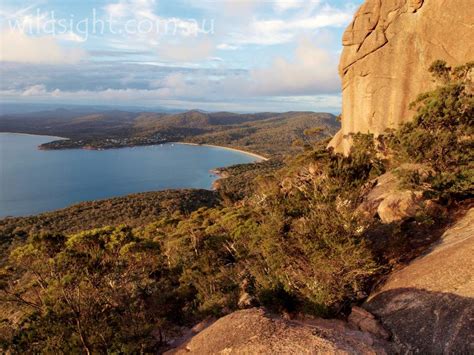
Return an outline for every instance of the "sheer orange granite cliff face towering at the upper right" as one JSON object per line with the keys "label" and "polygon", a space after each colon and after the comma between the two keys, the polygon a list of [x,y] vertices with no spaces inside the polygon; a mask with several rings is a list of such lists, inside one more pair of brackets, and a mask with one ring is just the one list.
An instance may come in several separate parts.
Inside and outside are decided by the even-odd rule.
{"label": "sheer orange granite cliff face towering at the upper right", "polygon": [[330,145],[348,153],[349,133],[410,120],[410,102],[435,85],[431,63],[473,60],[472,38],[472,0],[366,0],[343,36],[342,129]]}

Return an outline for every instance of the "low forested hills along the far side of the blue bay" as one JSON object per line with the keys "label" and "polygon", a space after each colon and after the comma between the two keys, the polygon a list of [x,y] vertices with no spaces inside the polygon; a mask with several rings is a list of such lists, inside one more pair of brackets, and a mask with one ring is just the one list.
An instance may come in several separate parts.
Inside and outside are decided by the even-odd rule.
{"label": "low forested hills along the far side of the blue bay", "polygon": [[[305,135],[305,130],[315,127],[321,128],[319,134]],[[314,112],[238,114],[192,110],[167,114],[57,109],[0,116],[2,132],[69,138],[47,143],[44,149],[107,149],[182,141],[279,155],[330,137],[339,128],[334,115]],[[302,144],[294,146],[295,141]]]}

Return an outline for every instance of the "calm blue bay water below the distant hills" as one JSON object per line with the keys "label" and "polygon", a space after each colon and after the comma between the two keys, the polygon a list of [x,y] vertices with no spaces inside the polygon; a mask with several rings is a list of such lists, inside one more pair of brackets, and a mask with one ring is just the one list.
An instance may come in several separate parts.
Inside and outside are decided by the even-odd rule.
{"label": "calm blue bay water below the distant hills", "polygon": [[175,188],[210,188],[209,170],[256,158],[203,146],[165,144],[105,151],[42,151],[54,137],[0,133],[0,218]]}

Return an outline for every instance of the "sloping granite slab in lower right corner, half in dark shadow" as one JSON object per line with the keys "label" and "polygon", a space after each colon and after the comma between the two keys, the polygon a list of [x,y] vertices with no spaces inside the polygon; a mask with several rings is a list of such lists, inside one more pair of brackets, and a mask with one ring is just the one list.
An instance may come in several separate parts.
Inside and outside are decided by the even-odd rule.
{"label": "sloping granite slab in lower right corner, half in dark shadow", "polygon": [[474,209],[364,305],[398,353],[474,353]]}

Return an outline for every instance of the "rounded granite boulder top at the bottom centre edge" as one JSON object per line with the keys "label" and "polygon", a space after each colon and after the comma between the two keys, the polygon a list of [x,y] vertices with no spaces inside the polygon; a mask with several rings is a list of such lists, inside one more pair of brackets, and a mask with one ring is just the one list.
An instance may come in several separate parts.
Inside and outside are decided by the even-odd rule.
{"label": "rounded granite boulder top at the bottom centre edge", "polygon": [[252,308],[217,320],[167,354],[386,354],[388,349],[389,343],[340,320],[292,321]]}

